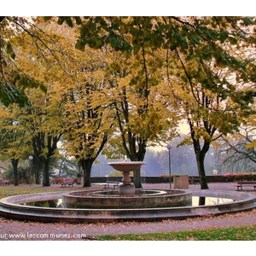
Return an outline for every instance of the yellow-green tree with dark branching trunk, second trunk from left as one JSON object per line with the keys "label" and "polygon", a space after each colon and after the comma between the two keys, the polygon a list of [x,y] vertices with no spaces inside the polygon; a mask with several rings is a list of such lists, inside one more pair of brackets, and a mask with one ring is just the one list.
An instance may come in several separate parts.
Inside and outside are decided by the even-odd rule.
{"label": "yellow-green tree with dark branching trunk, second trunk from left", "polygon": [[56,101],[55,92],[48,90],[31,90],[28,93],[30,105],[21,109],[26,119],[26,131],[29,133],[33,152],[33,164],[36,165],[36,182],[43,172],[43,186],[49,186],[49,165],[57,153],[57,143],[64,132],[61,121],[61,102]]}

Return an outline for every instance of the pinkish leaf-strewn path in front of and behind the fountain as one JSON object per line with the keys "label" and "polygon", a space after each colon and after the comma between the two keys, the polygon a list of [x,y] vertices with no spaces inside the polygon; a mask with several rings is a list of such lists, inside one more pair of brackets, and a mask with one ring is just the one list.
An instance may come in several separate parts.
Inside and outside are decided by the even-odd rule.
{"label": "pinkish leaf-strewn path in front of and behind the fountain", "polygon": [[[168,189],[169,184],[144,184],[145,189]],[[190,185],[197,190],[200,186]],[[236,183],[210,183],[209,189],[236,191]],[[253,191],[244,191],[255,193]],[[164,220],[160,222],[125,222],[109,224],[44,224],[0,218],[0,240],[83,240],[84,236],[107,234],[143,234],[182,230],[207,230],[256,224],[256,209],[218,217]],[[23,234],[23,236],[21,236]]]}

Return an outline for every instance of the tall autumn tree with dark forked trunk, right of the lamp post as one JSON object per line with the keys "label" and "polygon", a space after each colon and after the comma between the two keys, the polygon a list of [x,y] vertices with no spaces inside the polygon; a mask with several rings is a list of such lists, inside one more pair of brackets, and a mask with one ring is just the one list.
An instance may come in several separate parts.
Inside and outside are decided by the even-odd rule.
{"label": "tall autumn tree with dark forked trunk, right of the lamp post", "polygon": [[[201,189],[208,188],[204,160],[211,143],[222,135],[237,131],[253,113],[255,78],[252,71],[255,63],[248,51],[253,41],[247,44],[250,35],[247,39],[241,37],[235,27],[235,24],[239,25],[238,20],[232,21],[232,26],[229,22],[219,25],[218,30],[214,30],[218,40],[207,46],[202,44],[194,51],[193,59],[184,55],[181,49],[175,50],[181,67],[179,87],[190,96],[181,97],[180,102],[189,123]],[[209,31],[213,30],[213,24],[207,23]],[[246,30],[243,26],[240,29],[247,31],[249,28]],[[242,43],[247,45],[240,48]],[[202,56],[206,48],[207,55]]]}

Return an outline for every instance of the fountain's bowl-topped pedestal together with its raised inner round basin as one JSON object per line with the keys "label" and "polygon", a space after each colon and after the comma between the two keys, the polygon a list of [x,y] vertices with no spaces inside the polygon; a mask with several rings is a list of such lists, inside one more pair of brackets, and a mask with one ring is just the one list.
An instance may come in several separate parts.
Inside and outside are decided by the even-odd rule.
{"label": "fountain's bowl-topped pedestal together with its raised inner round basin", "polygon": [[135,189],[131,183],[130,172],[137,172],[142,161],[109,162],[109,166],[123,173],[119,189],[96,191],[73,191],[62,195],[68,208],[131,209],[179,207],[191,205],[191,192],[183,190]]}

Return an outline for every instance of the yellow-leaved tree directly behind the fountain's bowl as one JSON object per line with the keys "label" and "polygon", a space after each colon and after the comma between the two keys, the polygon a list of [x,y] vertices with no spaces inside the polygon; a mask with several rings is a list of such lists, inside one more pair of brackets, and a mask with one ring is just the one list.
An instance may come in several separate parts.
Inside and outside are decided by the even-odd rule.
{"label": "yellow-leaved tree directly behind the fountain's bowl", "polygon": [[[152,51],[141,54],[140,58],[137,55],[129,59],[120,55],[108,70],[118,128],[110,139],[108,151],[112,151],[113,157],[126,155],[131,161],[143,161],[148,145],[170,139],[177,124],[176,113],[170,114],[161,95],[165,84],[153,83],[156,82],[153,74],[161,73],[157,67],[159,55]],[[142,67],[147,69],[147,76]],[[133,180],[136,188],[142,187],[140,172],[133,174]]]}

